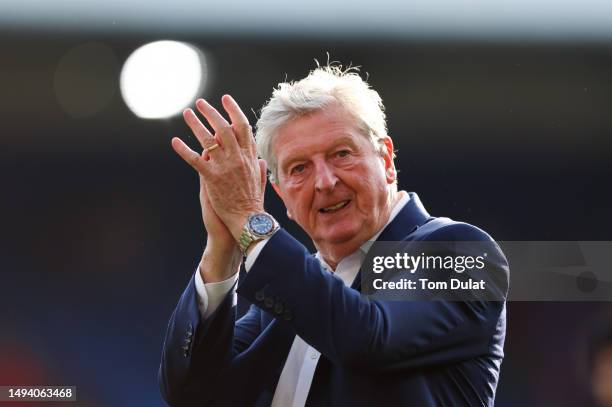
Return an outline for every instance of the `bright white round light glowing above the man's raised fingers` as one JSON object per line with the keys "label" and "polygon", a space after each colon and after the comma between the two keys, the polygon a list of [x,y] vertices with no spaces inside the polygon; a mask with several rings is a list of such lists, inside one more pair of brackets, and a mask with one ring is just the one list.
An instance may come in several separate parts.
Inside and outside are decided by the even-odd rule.
{"label": "bright white round light glowing above the man's raised fingers", "polygon": [[192,45],[156,41],[134,51],[121,71],[121,94],[145,119],[174,116],[193,103],[206,82],[204,54]]}

